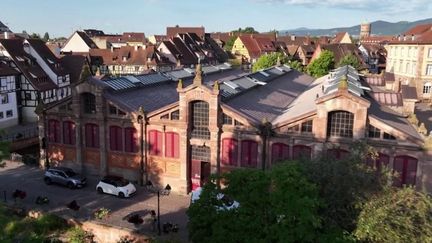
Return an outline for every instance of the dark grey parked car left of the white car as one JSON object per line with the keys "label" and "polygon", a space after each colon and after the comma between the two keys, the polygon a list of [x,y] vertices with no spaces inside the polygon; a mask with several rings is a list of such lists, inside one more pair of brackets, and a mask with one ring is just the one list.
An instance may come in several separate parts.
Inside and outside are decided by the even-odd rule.
{"label": "dark grey parked car left of the white car", "polygon": [[53,183],[67,186],[70,189],[81,188],[87,184],[87,179],[66,167],[53,167],[45,171],[44,181],[47,185]]}

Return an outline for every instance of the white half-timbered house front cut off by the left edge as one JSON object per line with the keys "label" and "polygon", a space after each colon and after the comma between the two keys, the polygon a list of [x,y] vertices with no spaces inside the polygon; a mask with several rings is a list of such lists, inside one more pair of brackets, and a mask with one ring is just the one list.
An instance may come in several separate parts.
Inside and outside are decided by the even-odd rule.
{"label": "white half-timbered house front cut off by the left edge", "polygon": [[16,79],[19,74],[0,60],[0,129],[18,124]]}

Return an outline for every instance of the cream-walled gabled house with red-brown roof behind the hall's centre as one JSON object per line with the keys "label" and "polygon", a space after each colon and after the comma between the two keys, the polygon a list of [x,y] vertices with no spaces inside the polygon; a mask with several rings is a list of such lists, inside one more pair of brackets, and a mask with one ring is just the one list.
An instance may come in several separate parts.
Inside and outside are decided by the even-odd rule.
{"label": "cream-walled gabled house with red-brown roof behind the hall's centre", "polygon": [[255,63],[261,55],[276,52],[276,47],[270,38],[242,35],[235,40],[231,52],[244,63]]}

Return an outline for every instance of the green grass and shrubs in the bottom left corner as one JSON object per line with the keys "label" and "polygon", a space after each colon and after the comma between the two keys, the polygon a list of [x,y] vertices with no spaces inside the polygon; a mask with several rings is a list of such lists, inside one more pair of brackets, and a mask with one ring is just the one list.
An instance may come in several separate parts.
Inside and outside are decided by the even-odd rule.
{"label": "green grass and shrubs in the bottom left corner", "polygon": [[67,236],[67,242],[81,241],[84,232],[79,228],[68,226],[67,222],[55,215],[46,214],[38,219],[21,217],[0,203],[0,242],[1,243],[45,243],[62,242],[60,238]]}

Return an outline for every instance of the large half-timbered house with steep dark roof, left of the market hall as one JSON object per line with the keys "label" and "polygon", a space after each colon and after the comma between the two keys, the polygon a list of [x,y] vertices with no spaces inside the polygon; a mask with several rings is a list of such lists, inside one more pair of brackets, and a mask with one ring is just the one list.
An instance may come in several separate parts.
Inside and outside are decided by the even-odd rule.
{"label": "large half-timbered house with steep dark roof, left of the market hall", "polygon": [[39,39],[0,39],[0,58],[20,74],[16,78],[19,122],[37,120],[35,108],[71,95],[70,84],[77,82],[85,58],[56,57]]}

